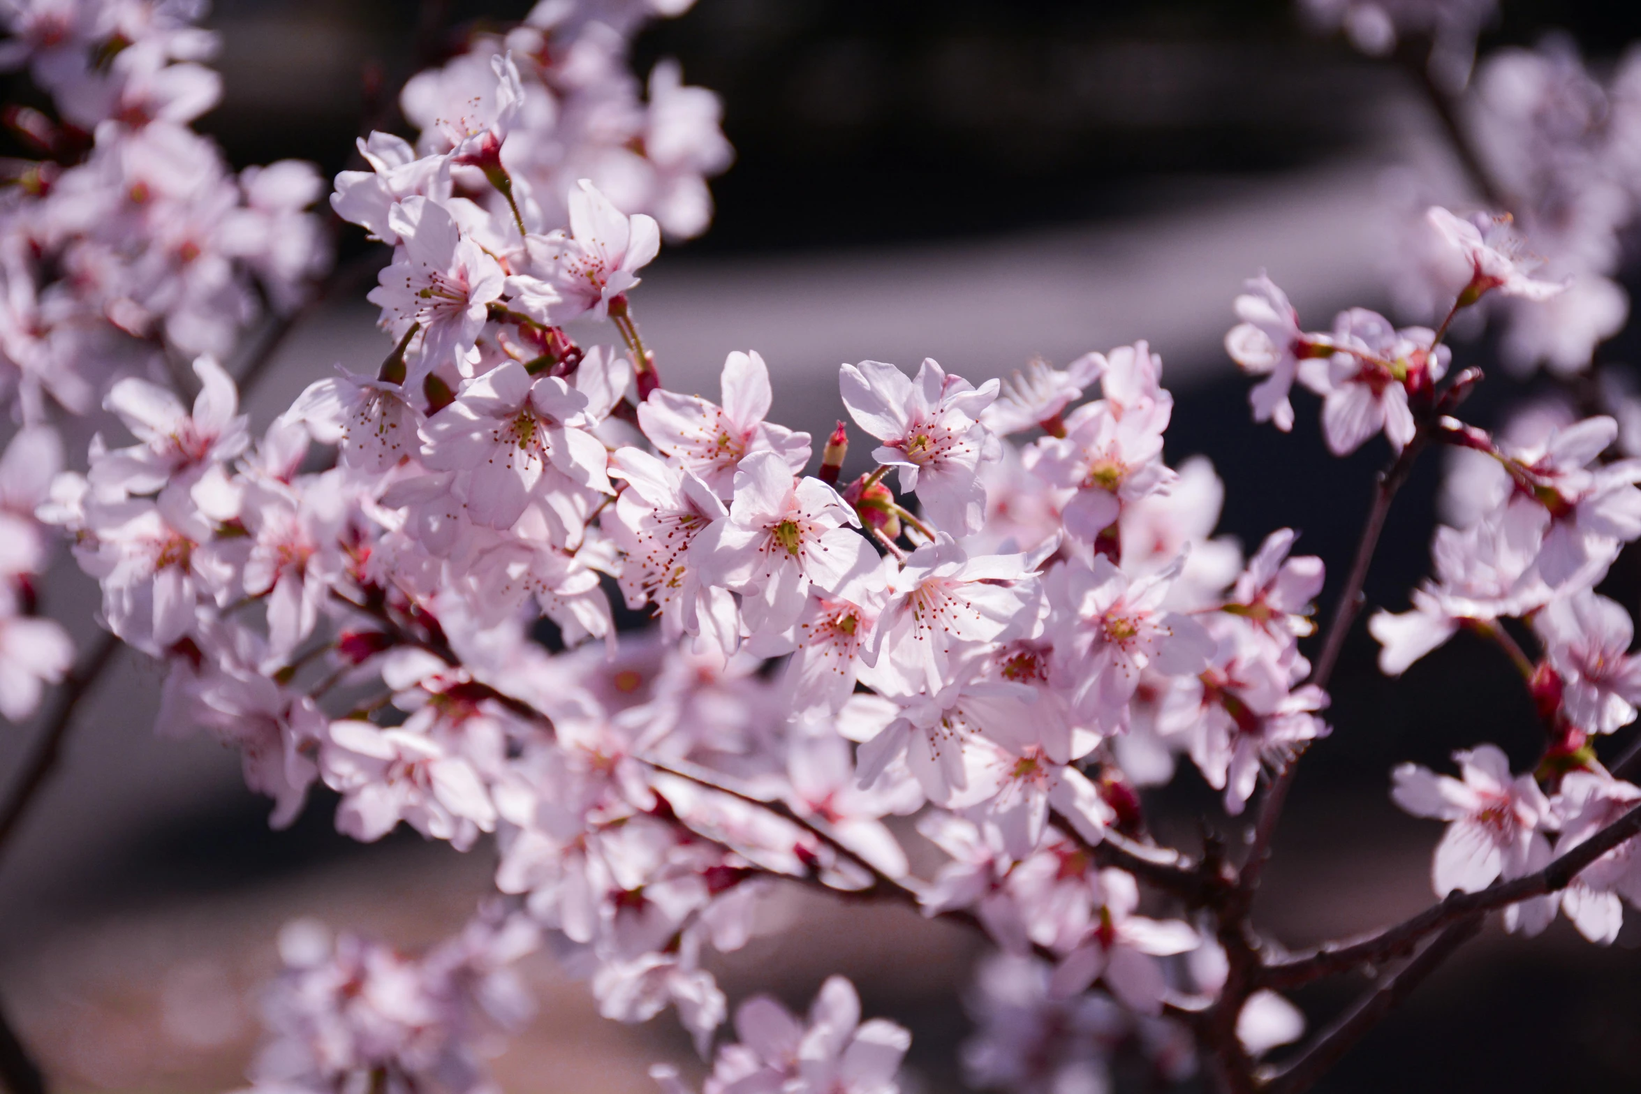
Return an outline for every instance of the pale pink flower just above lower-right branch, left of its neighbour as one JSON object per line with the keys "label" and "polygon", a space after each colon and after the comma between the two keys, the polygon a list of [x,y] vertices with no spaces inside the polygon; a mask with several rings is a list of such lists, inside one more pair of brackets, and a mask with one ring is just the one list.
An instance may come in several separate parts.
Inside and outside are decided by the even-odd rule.
{"label": "pale pink flower just above lower-right branch, left of its neighbour", "polygon": [[1452,758],[1462,781],[1401,764],[1390,794],[1415,817],[1449,822],[1431,871],[1442,897],[1454,889],[1480,892],[1500,874],[1520,877],[1529,871],[1534,848],[1549,850],[1539,832],[1551,820],[1549,800],[1531,774],[1511,776],[1510,759],[1493,745]]}

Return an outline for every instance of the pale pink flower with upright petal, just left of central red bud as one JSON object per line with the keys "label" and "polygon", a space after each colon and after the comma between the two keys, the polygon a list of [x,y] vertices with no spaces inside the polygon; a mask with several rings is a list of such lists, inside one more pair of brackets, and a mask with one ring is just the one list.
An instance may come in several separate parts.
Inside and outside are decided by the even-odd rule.
{"label": "pale pink flower with upright petal, just left of central red bud", "polygon": [[809,463],[809,435],[765,422],[770,413],[770,369],[757,353],[735,351],[724,361],[724,405],[666,389],[638,407],[638,425],[663,454],[701,476],[719,497],[730,497],[735,467],[748,453],[779,453],[793,474]]}

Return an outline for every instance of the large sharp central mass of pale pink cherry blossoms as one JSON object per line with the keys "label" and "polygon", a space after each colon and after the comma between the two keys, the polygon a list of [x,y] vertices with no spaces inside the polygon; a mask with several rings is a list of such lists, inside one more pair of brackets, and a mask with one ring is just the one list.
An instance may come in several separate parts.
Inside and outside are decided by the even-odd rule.
{"label": "large sharp central mass of pale pink cherry blossoms", "polygon": [[[505,57],[491,79],[515,102]],[[469,138],[510,134],[499,110]],[[568,230],[519,233],[505,179],[489,207],[446,185],[463,154],[340,180],[394,243],[376,377],[320,381],[259,438],[210,358],[192,407],[130,377],[107,408],[133,443],[56,481],[107,625],[169,664],[161,728],[236,745],[274,823],[323,782],[361,840],[494,833],[497,887],[604,1012],[671,1005],[702,1048],[727,1014],[702,951],[745,941],[771,874],[976,915],[1062,994],[1159,1015],[1195,991],[1173,958],[1198,932],[1088,848],[1175,753],[1241,812],[1326,733],[1296,648],[1321,564],[1287,530],[1247,566],[1209,541],[1219,484],[1163,463],[1160,358],[980,387],[843,366],[875,469],[842,482],[840,425],[804,474],[757,353],[719,402],[660,385],[648,215],[583,180]],[[576,346],[579,317],[622,344]],[[617,641],[612,594],[656,630]],[[927,887],[886,823],[907,814],[952,856]]]}

